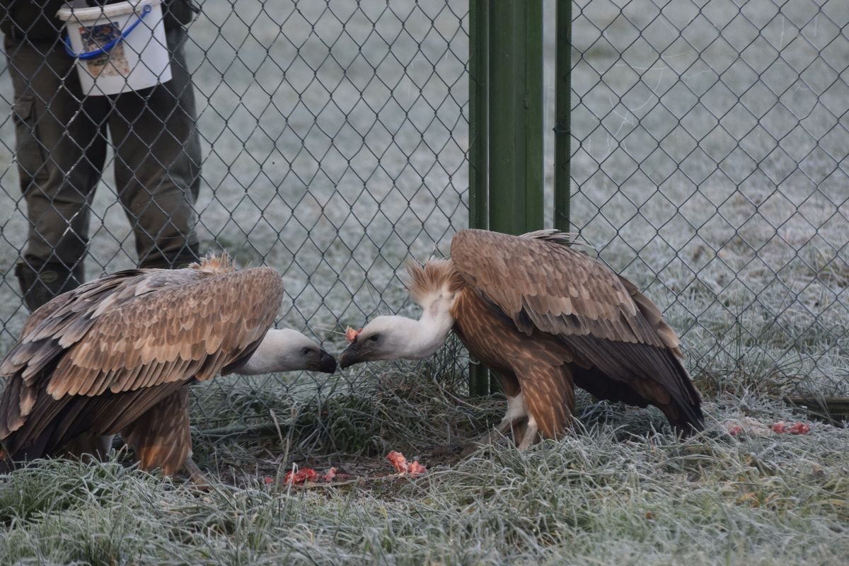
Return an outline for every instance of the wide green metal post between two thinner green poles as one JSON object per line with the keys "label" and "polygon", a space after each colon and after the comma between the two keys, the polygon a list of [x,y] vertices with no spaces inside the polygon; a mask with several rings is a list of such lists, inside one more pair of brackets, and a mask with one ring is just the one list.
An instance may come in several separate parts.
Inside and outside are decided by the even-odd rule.
{"label": "wide green metal post between two thinner green poles", "polygon": [[489,227],[543,227],[543,4],[490,3]]}

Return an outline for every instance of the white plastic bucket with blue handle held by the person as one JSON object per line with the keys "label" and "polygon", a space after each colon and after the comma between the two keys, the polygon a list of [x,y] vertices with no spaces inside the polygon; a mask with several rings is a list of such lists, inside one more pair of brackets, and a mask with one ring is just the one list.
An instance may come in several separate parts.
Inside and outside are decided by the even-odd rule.
{"label": "white plastic bucket with blue handle held by the person", "polygon": [[56,17],[65,21],[65,47],[76,58],[83,94],[120,94],[171,81],[160,0],[66,4]]}

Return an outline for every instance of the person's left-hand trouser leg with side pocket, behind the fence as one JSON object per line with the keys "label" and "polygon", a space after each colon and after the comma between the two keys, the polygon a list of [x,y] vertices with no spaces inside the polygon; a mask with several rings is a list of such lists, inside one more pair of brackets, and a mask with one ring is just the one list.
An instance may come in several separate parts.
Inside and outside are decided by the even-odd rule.
{"label": "person's left-hand trouser leg with side pocket, behind the fence", "polygon": [[104,105],[80,100],[79,79],[59,42],[4,42],[14,87],[15,160],[30,223],[15,266],[34,311],[83,280],[88,204],[104,164]]}

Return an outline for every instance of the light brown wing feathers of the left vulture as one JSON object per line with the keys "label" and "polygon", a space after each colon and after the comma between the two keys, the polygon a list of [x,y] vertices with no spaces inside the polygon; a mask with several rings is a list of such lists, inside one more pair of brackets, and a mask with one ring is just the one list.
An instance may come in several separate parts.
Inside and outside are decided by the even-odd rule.
{"label": "light brown wing feathers of the left vulture", "polygon": [[[171,371],[178,362],[182,367],[184,361],[213,358],[198,370],[199,379],[211,378],[222,361],[265,335],[283,296],[277,272],[266,267],[221,275],[180,271],[185,273],[175,277],[176,284],[133,296],[101,314],[59,361],[48,393],[98,395],[184,381],[193,376]],[[193,278],[186,281],[187,275]],[[123,377],[139,366],[145,371],[125,382]],[[109,373],[111,378],[101,379]]]}

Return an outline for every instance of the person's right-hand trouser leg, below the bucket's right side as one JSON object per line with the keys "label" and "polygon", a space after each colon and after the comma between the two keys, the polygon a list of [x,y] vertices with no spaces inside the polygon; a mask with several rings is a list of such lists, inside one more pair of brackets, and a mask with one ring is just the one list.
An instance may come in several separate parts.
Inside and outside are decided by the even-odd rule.
{"label": "person's right-hand trouser leg, below the bucket's right side", "polygon": [[116,188],[140,267],[178,267],[198,259],[200,136],[183,53],[186,32],[175,28],[166,36],[171,81],[119,95],[110,116]]}

